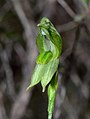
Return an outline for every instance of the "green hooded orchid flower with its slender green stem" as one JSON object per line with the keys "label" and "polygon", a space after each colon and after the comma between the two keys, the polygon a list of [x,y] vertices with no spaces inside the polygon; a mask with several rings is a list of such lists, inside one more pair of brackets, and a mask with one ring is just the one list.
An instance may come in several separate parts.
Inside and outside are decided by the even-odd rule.
{"label": "green hooded orchid flower with its slender green stem", "polygon": [[27,89],[40,82],[44,92],[48,86],[48,119],[51,119],[57,90],[57,69],[62,52],[62,39],[46,17],[42,18],[38,27],[36,45],[39,55],[36,58],[36,66]]}

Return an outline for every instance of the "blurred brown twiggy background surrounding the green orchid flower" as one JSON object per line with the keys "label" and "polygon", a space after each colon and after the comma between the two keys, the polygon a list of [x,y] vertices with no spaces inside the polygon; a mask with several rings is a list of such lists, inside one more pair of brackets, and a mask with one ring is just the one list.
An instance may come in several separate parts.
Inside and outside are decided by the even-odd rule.
{"label": "blurred brown twiggy background surrounding the green orchid flower", "polygon": [[43,16],[63,38],[53,119],[90,119],[90,0],[0,0],[0,119],[47,119],[47,92],[26,92]]}

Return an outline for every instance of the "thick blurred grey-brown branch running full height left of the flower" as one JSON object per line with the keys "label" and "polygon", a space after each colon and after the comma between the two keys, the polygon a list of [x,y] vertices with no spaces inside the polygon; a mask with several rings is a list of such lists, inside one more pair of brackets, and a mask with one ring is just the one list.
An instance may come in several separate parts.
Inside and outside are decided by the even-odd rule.
{"label": "thick blurred grey-brown branch running full height left of the flower", "polygon": [[[34,66],[33,60],[35,59],[36,56],[36,49],[34,46],[33,42],[33,31],[32,31],[32,22],[29,22],[23,9],[22,5],[19,0],[11,0],[15,11],[22,23],[22,26],[25,31],[25,35],[27,38],[27,48],[28,48],[28,57],[26,57],[26,62],[23,65],[23,82],[22,86],[20,89],[20,92],[17,96],[17,100],[15,101],[13,107],[12,107],[12,112],[11,112],[11,119],[20,119],[22,115],[24,114],[27,104],[29,102],[29,99],[31,97],[31,92],[26,92],[26,88],[28,85],[28,81],[30,79],[32,69]],[[35,32],[35,31],[34,31]],[[32,55],[34,54],[34,55]]]}

